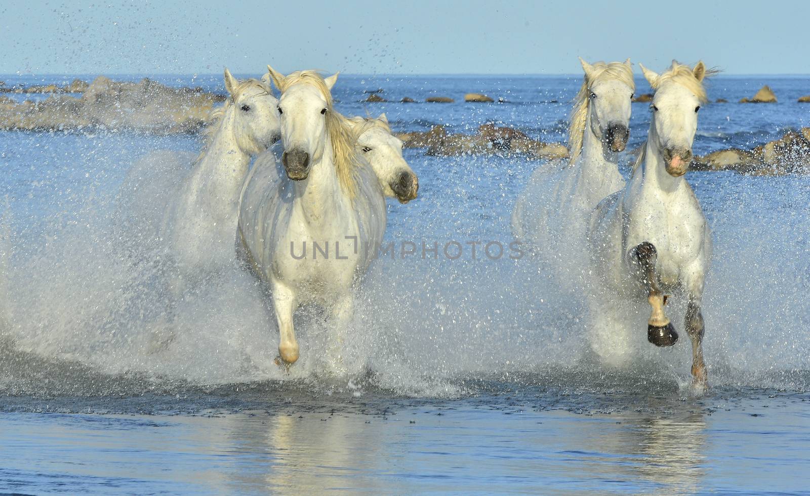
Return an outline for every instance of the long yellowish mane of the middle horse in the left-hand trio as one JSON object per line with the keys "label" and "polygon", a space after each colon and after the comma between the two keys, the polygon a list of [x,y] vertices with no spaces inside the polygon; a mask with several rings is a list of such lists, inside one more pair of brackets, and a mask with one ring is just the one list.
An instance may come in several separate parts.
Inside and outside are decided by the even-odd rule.
{"label": "long yellowish mane of the middle horse in the left-hand trio", "polygon": [[339,112],[335,112],[332,93],[326,86],[326,80],[318,71],[296,70],[279,81],[277,86],[283,93],[293,84],[298,83],[315,87],[326,100],[326,132],[329,133],[332,142],[332,162],[335,163],[335,173],[344,193],[349,198],[354,198],[357,193],[356,169],[360,165],[355,145],[357,138],[366,128],[361,125],[359,127],[362,130],[356,129],[352,126],[351,121]]}

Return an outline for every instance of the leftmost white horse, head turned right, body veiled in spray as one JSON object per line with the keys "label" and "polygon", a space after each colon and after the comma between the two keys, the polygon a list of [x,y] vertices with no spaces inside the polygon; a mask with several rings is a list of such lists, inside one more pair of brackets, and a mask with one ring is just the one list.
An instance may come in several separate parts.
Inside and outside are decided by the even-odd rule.
{"label": "leftmost white horse, head turned right, body veiled in spray", "polygon": [[164,218],[173,254],[186,267],[232,259],[250,157],[280,138],[271,87],[252,78],[238,81],[228,69],[224,77],[230,96],[212,112],[206,146]]}

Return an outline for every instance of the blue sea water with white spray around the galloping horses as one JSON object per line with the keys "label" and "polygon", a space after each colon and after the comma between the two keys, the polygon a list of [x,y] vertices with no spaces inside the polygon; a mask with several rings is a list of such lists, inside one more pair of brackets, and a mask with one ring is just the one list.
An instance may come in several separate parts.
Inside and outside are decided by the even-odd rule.
{"label": "blue sea water with white spray around the galloping horses", "polygon": [[[0,80],[75,77],[92,79]],[[219,75],[150,77],[224,91]],[[395,131],[496,122],[564,142],[580,82],[342,74],[333,93],[340,112],[385,112]],[[764,84],[778,104],[735,103]],[[394,103],[363,102],[377,89]],[[467,92],[506,101],[465,104]],[[708,92],[731,103],[701,109],[696,155],[810,126],[796,103],[808,76],[720,75]],[[430,95],[456,103],[398,103]],[[649,121],[633,104],[628,150]],[[419,197],[389,201],[386,240],[458,241],[463,256],[377,260],[347,370],[319,352],[330,329],[310,307],[296,314],[301,360],[279,368],[275,318],[244,267],[175,295],[161,241],[127,221],[177,194],[185,172],[156,152],[190,167],[201,146],[198,134],[0,132],[0,493],[810,494],[810,176],[689,172],[714,240],[700,394],[685,333],[661,350],[639,326],[633,360],[603,366],[582,305],[542,265],[467,249],[513,240],[514,201],[544,163],[424,149],[405,150]]]}

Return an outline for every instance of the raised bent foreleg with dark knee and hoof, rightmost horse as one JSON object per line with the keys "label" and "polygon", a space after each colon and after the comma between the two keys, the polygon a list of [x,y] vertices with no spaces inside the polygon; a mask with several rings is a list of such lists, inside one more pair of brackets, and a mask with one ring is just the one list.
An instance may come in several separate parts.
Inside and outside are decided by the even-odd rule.
{"label": "raised bent foreleg with dark knee and hoof, rightmost horse", "polygon": [[678,341],[678,333],[664,312],[667,297],[661,291],[658,273],[655,272],[655,261],[658,251],[655,246],[645,241],[630,252],[630,261],[636,269],[637,278],[647,290],[647,301],[652,312],[647,320],[647,341],[655,346],[672,346]]}

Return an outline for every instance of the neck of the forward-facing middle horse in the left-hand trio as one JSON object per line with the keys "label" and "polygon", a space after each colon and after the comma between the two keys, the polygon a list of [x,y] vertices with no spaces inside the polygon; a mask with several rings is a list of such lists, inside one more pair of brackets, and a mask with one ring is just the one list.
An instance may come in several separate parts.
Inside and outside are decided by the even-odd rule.
{"label": "neck of the forward-facing middle horse in the left-hand trio", "polygon": [[345,198],[335,171],[332,155],[332,140],[327,136],[323,154],[312,164],[309,176],[302,181],[293,181],[296,203],[310,225],[329,224]]}

